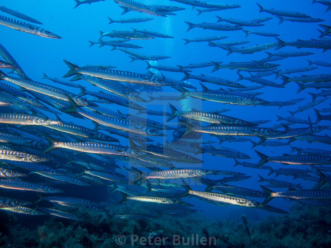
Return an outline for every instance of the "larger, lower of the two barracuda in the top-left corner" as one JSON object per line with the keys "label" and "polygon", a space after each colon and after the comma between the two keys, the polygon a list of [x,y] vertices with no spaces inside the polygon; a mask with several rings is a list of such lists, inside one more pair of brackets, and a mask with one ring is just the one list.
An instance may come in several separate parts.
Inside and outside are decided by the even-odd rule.
{"label": "larger, lower of the two barracuda in the top-left corner", "polygon": [[41,37],[62,39],[59,35],[53,34],[50,31],[47,31],[46,29],[37,27],[35,25],[31,25],[24,21],[15,20],[5,16],[0,16],[0,24],[6,27],[14,28],[16,30],[30,34],[35,34]]}

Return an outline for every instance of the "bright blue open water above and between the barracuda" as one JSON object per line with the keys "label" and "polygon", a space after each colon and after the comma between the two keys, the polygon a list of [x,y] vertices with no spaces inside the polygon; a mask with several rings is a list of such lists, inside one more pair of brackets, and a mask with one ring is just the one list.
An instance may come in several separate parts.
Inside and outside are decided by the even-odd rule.
{"label": "bright blue open water above and between the barracuda", "polygon": [[[160,60],[156,62],[156,64],[160,65],[186,65],[189,63],[198,63],[198,62],[208,62],[208,61],[222,61],[223,63],[228,62],[241,62],[241,61],[251,61],[251,60],[260,60],[262,58],[267,57],[266,54],[261,51],[254,54],[237,54],[232,53],[229,56],[226,56],[227,51],[222,50],[217,47],[208,47],[207,42],[191,42],[187,45],[183,45],[185,39],[193,39],[196,37],[203,36],[212,36],[212,35],[223,35],[228,36],[228,38],[221,41],[234,41],[234,40],[245,40],[245,33],[241,30],[237,31],[215,31],[215,30],[204,30],[201,28],[193,28],[190,31],[186,32],[187,25],[184,21],[189,21],[192,23],[201,23],[201,22],[215,22],[217,18],[215,15],[220,16],[222,18],[235,18],[235,19],[254,19],[260,17],[269,17],[271,14],[262,12],[259,13],[259,7],[255,3],[255,1],[228,1],[229,3],[239,4],[242,7],[237,9],[229,9],[222,10],[216,12],[206,12],[202,13],[199,16],[196,16],[197,11],[191,11],[191,7],[185,4],[167,1],[167,0],[157,0],[157,1],[144,1],[140,0],[140,2],[147,5],[175,5],[179,7],[184,7],[186,10],[175,12],[176,16],[168,16],[168,17],[159,17],[152,16],[154,20],[148,22],[140,22],[140,23],[112,23],[108,24],[108,17],[118,20],[120,18],[132,18],[132,17],[151,17],[148,14],[138,13],[138,12],[129,12],[124,15],[120,15],[122,9],[118,7],[118,3],[114,1],[102,1],[97,3],[82,4],[75,9],[72,9],[74,6],[73,1],[68,0],[58,0],[58,1],[33,1],[33,0],[15,0],[15,1],[3,1],[1,4],[5,4],[6,7],[18,10],[23,12],[24,14],[31,16],[38,21],[43,22],[44,27],[51,32],[60,35],[63,39],[47,39],[43,37],[39,37],[36,35],[31,35],[28,33],[20,32],[5,26],[0,26],[0,42],[1,44],[11,53],[11,55],[15,58],[15,60],[20,64],[23,68],[24,72],[33,80],[47,83],[50,85],[57,86],[59,88],[66,89],[70,92],[79,93],[79,89],[67,87],[64,85],[57,85],[49,80],[40,79],[42,77],[42,73],[46,73],[49,77],[57,77],[62,78],[62,76],[67,73],[68,67],[63,62],[63,60],[67,60],[72,63],[76,63],[79,65],[84,64],[108,64],[117,66],[117,70],[126,70],[137,73],[146,73],[146,63],[144,61],[134,61],[130,63],[130,58],[119,50],[110,51],[110,46],[104,46],[102,48],[98,48],[98,44],[89,46],[90,41],[97,41],[99,38],[99,30],[103,32],[108,32],[111,30],[131,30],[130,27],[137,29],[147,29],[153,30],[161,33],[165,33],[175,38],[165,39],[165,38],[156,38],[150,40],[132,40],[129,43],[136,44],[142,46],[142,49],[136,49],[137,52],[146,54],[146,55],[165,55],[171,56],[170,59]],[[215,1],[216,2],[216,1]],[[222,1],[223,2],[223,1]],[[296,39],[307,40],[310,38],[317,38],[319,36],[319,32],[316,28],[319,28],[318,24],[330,24],[330,12],[324,13],[327,8],[325,5],[321,5],[319,3],[311,4],[311,1],[267,1],[260,0],[259,3],[265,8],[275,8],[275,9],[285,9],[285,10],[296,10],[302,13],[305,13],[311,17],[318,17],[324,19],[323,22],[318,23],[301,23],[301,22],[290,22],[284,21],[280,25],[278,25],[278,19],[273,18],[270,21],[263,22],[265,26],[260,27],[244,27],[245,30],[265,30],[274,33],[280,34],[278,36],[280,39],[284,41],[294,41]],[[197,7],[200,9],[200,7]],[[4,13],[0,13],[5,16],[9,16]],[[15,19],[15,18],[14,18]],[[225,23],[225,22],[221,22]],[[37,24],[38,26],[38,24]],[[40,25],[39,25],[40,26]],[[328,37],[328,36],[326,36]],[[105,37],[108,38],[108,37]],[[264,37],[260,35],[250,34],[246,40],[249,40],[250,43],[245,44],[243,46],[253,46],[256,44],[264,44],[269,42],[275,42],[274,37]],[[265,50],[267,52],[274,52],[274,49]],[[314,55],[310,56],[302,56],[302,57],[293,57],[285,60],[275,61],[272,63],[280,63],[280,69],[290,69],[296,67],[304,67],[308,66],[308,62],[306,59],[311,61],[325,61],[330,62],[330,51],[326,51],[322,53],[322,49],[308,49],[301,48],[297,49],[294,47],[284,47],[277,51],[310,51],[314,52]],[[312,65],[315,66],[315,65]],[[200,73],[215,77],[220,77],[224,79],[229,79],[232,81],[237,80],[238,75],[236,74],[236,70],[230,69],[219,69],[216,72],[211,73],[213,67],[204,67],[193,69],[192,74],[198,75]],[[8,70],[3,70],[5,73]],[[170,78],[175,78],[180,80],[184,75],[178,72],[166,72],[162,71],[162,73]],[[318,69],[313,71],[308,71],[303,74],[305,75],[315,75],[315,74],[327,74],[330,73],[329,67],[319,66]],[[242,72],[242,75],[249,76],[247,72]],[[293,76],[301,76],[301,73],[293,73],[289,75]],[[274,80],[274,75],[264,77],[265,79],[269,79],[276,83],[281,83],[282,80],[278,78]],[[198,91],[201,90],[199,82],[195,79],[189,79],[188,82],[191,82],[192,85],[198,87]],[[99,91],[95,86],[91,86],[90,83],[85,82],[83,80],[77,81],[77,83],[82,86],[87,87],[87,90],[91,91]],[[244,84],[246,86],[256,85],[256,83],[251,83],[247,80],[241,80],[239,83]],[[205,86],[210,89],[218,89],[219,86],[210,83],[203,83]],[[194,107],[198,110],[211,109],[211,108],[229,108],[230,111],[226,112],[226,115],[238,117],[240,119],[253,121],[253,120],[272,120],[271,122],[264,124],[264,127],[270,127],[274,124],[278,124],[277,117],[280,115],[282,117],[289,116],[287,111],[294,111],[298,107],[303,106],[307,103],[311,102],[311,96],[308,95],[308,92],[317,93],[320,90],[315,89],[305,89],[299,94],[296,94],[298,86],[294,82],[290,82],[286,85],[286,88],[271,88],[264,87],[258,92],[264,92],[264,94],[260,95],[264,100],[267,101],[290,101],[296,98],[306,98],[304,101],[297,103],[291,106],[283,106],[281,109],[278,109],[278,106],[243,106],[243,105],[226,105],[223,103],[209,102],[209,101],[201,101],[199,99],[189,98],[188,100],[181,101],[173,101],[171,104],[177,107],[177,109],[189,109]],[[163,91],[160,93],[153,93],[152,96],[156,97],[159,95],[180,95],[179,92],[176,92],[171,87],[164,87]],[[144,99],[148,99],[148,93],[142,93],[141,97]],[[320,98],[318,98],[320,99]],[[321,103],[315,108],[322,109],[328,108],[330,105],[330,100]],[[170,111],[167,101],[152,101],[150,103],[141,103],[142,106],[151,110],[164,110]],[[101,105],[102,107],[109,107],[112,110],[119,109],[122,113],[130,113],[136,114],[137,111],[134,109],[127,109],[122,106],[117,105]],[[46,113],[46,112],[45,112]],[[55,116],[51,113],[46,113],[50,118],[55,118]],[[322,113],[326,114],[326,113]],[[166,123],[166,117],[161,116],[145,116],[139,115],[141,117],[153,118],[159,122]],[[307,119],[310,116],[312,121],[315,121],[316,116],[313,109],[305,110],[304,112],[300,112],[295,114],[294,117]],[[73,121],[76,124],[84,125],[89,128],[93,128],[93,124],[89,120],[80,120],[80,119],[72,119],[71,116],[67,114],[61,115],[61,118],[65,121]],[[167,125],[177,125],[176,118],[166,123]],[[330,122],[321,121],[319,125],[328,125]],[[296,127],[307,127],[307,125],[303,124],[295,124],[292,125],[291,128]],[[166,132],[167,137],[164,138],[154,138],[156,142],[161,144],[165,144],[165,141],[172,140],[171,132]],[[324,130],[317,135],[330,135],[330,130]],[[249,137],[252,138],[252,137]],[[212,139],[209,135],[203,135],[202,139]],[[258,142],[259,139],[256,137],[252,138],[253,141]],[[126,139],[120,138],[121,145],[128,145]],[[280,140],[281,142],[287,142],[287,140]],[[215,143],[217,144],[217,143]],[[213,145],[215,145],[213,144]],[[256,155],[256,153],[251,149],[252,144],[250,142],[245,143],[227,143],[224,142],[223,146],[234,148],[240,150],[249,156],[251,159],[245,160],[245,162],[257,163],[260,158]],[[305,141],[294,141],[291,145],[302,148],[319,148],[319,149],[330,149],[329,145],[322,143],[311,143],[308,144]],[[276,156],[281,155],[283,153],[289,153],[289,146],[279,146],[279,147],[264,147],[257,146],[256,150],[262,152],[263,154]],[[232,158],[219,157],[219,156],[211,156],[210,154],[200,154],[196,155],[197,158],[202,159],[204,161],[203,164],[184,164],[184,163],[175,163],[177,168],[206,168],[206,169],[219,169],[219,170],[233,170],[242,173],[246,173],[247,175],[252,176],[252,178],[244,181],[229,183],[234,186],[247,187],[251,189],[260,190],[260,184],[257,183],[259,179],[258,174],[260,174],[264,178],[273,178],[273,175],[268,177],[267,170],[259,170],[242,167],[240,165],[233,167],[234,160]],[[242,160],[244,161],[244,160]],[[118,165],[121,167],[122,162],[119,161]],[[278,163],[268,163],[273,169],[280,168],[307,168],[304,165],[282,165]],[[132,166],[132,164],[125,163],[125,166]],[[139,168],[139,166],[137,167]],[[143,170],[143,168],[140,168]],[[122,172],[123,173],[123,172]],[[124,175],[129,176],[133,179],[134,174],[132,173],[124,173]],[[211,179],[219,179],[222,176],[210,176]],[[295,184],[303,183],[302,186],[304,188],[311,188],[314,182],[304,181],[302,179],[293,180],[292,177],[286,176],[278,176],[276,179],[283,180],[287,182],[292,182]],[[203,190],[203,186],[195,186],[196,182],[193,180],[186,180],[190,183],[190,186],[196,190]],[[178,180],[171,180],[171,182],[181,183]],[[263,183],[264,184],[264,183]],[[262,184],[262,185],[263,185]],[[265,185],[265,184],[264,184]],[[137,187],[135,187],[137,188]],[[79,190],[80,191],[80,190]],[[70,192],[71,196],[82,197],[84,193],[72,191],[68,188],[66,193]],[[88,190],[86,192],[88,195],[95,197],[100,197],[100,199],[104,199],[104,195],[98,195],[98,191]],[[113,199],[120,199],[121,196],[119,192],[116,192],[112,195]],[[256,219],[256,217],[266,216],[266,215],[276,215],[275,213],[269,213],[265,210],[260,209],[249,209],[238,206],[229,205],[228,207],[218,207],[213,204],[208,204],[203,201],[200,201],[195,198],[182,198],[187,202],[195,205],[194,209],[203,210],[203,214],[212,217],[212,218],[229,218],[229,219],[238,219],[240,218],[242,213],[246,213],[249,220]],[[261,202],[262,199],[255,198],[254,200]],[[147,204],[147,203],[146,203]],[[295,204],[294,202],[287,202],[284,199],[273,199],[268,203],[269,205],[278,207],[280,209],[289,211],[289,206]],[[156,206],[153,206],[156,208]],[[160,206],[163,208],[163,206]],[[18,216],[20,218],[20,216]]]}

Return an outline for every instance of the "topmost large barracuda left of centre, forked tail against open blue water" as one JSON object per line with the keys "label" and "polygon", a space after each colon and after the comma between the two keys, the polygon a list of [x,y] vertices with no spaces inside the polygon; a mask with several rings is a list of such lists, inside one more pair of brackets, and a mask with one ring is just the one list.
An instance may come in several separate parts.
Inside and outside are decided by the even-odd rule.
{"label": "topmost large barracuda left of centre, forked tail against open blue water", "polygon": [[144,74],[133,73],[129,71],[116,71],[110,69],[80,68],[79,66],[72,64],[66,60],[64,60],[64,62],[68,65],[70,70],[63,77],[70,77],[75,74],[86,74],[94,77],[100,77],[103,79],[118,80],[127,83],[145,84],[153,86],[173,85],[173,83],[166,82],[161,78],[146,76]]}

